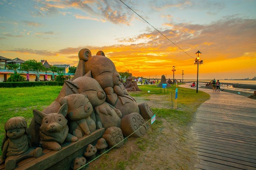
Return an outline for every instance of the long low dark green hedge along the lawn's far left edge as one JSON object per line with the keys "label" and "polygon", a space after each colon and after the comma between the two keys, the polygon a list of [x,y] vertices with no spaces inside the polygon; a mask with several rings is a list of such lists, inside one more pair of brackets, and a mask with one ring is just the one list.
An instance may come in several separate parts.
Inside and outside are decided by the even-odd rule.
{"label": "long low dark green hedge along the lawn's far left edge", "polygon": [[45,85],[64,85],[64,82],[0,82],[0,88],[34,87]]}

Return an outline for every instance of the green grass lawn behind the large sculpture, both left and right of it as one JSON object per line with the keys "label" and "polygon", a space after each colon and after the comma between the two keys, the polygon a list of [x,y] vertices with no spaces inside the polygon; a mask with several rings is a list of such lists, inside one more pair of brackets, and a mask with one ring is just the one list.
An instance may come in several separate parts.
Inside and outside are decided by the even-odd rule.
{"label": "green grass lawn behind the large sculpture, both left and right of it", "polygon": [[[0,88],[0,145],[5,133],[4,124],[8,119],[13,116],[23,116],[29,125],[33,117],[32,110],[42,111],[46,108],[58,96],[61,88],[61,86]],[[154,100],[156,96],[163,96],[162,100],[166,101],[165,105],[168,108],[158,107],[152,110],[157,116],[178,121],[181,126],[189,123],[198,106],[209,99],[209,94],[202,91],[196,93],[189,88],[178,88],[177,110],[174,110],[172,105],[174,107],[175,87],[167,88],[167,93],[165,91],[160,93],[160,88],[156,85],[143,85],[139,88],[142,92],[131,92],[131,96],[145,100]]]}

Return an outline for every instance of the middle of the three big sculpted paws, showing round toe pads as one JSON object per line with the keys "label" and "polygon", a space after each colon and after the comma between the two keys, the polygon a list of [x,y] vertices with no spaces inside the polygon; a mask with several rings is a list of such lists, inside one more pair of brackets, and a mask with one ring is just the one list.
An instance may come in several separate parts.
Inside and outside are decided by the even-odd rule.
{"label": "middle of the three big sculpted paws, showing round toe pads", "polygon": [[139,113],[131,113],[123,116],[121,119],[121,130],[125,136],[139,138],[145,135],[148,127],[143,117]]}

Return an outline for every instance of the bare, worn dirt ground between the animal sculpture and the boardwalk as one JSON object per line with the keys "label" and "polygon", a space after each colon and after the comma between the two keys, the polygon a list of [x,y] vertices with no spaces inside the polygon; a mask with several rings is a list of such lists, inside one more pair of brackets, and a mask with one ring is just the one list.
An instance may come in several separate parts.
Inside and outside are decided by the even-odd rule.
{"label": "bare, worn dirt ground between the animal sculpture and the boardwalk", "polygon": [[[147,102],[151,108],[169,108],[163,96],[154,101],[135,97],[137,103]],[[141,138],[128,138],[119,149],[92,161],[87,170],[195,170],[197,155],[193,148],[191,125],[181,126],[168,118],[156,118]]]}

